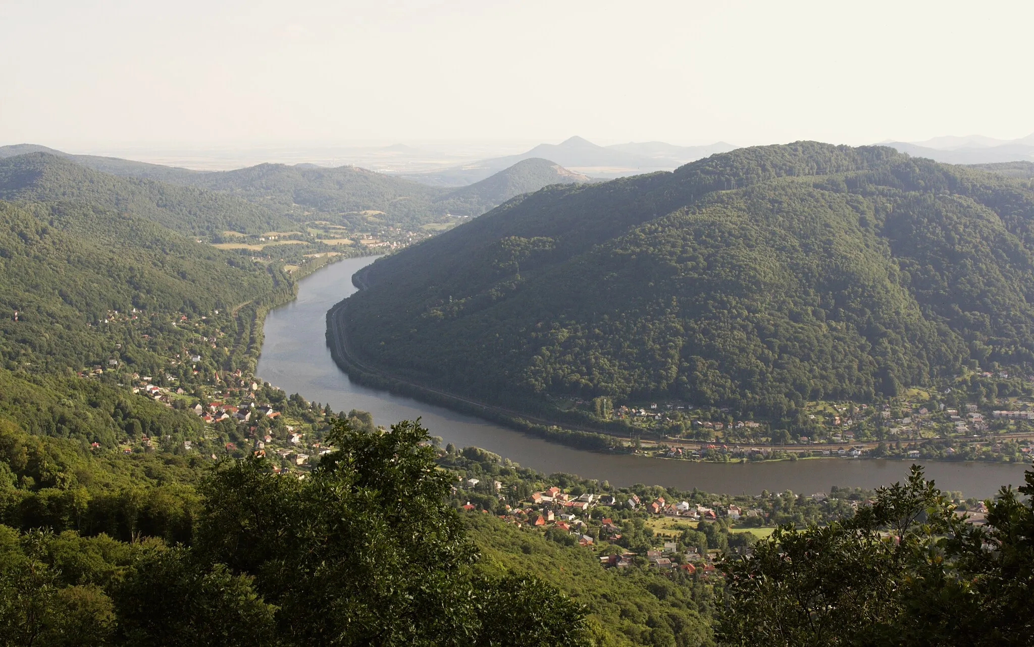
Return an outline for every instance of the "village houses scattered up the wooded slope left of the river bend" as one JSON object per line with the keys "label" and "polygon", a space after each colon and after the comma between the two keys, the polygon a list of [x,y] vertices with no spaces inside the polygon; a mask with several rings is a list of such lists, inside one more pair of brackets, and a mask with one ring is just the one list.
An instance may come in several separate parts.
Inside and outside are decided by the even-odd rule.
{"label": "village houses scattered up the wooded slope left of the river bend", "polygon": [[[201,424],[163,433],[130,426],[117,448],[97,441],[91,448],[122,454],[161,450],[209,460],[261,456],[270,459],[275,472],[304,477],[333,451],[321,439],[336,414],[256,378],[249,369],[253,364],[239,359],[248,339],[237,319],[237,312],[221,309],[170,316],[132,308],[109,310],[94,321],[122,341],[112,344],[103,364],[78,372],[80,378],[113,382],[165,407],[190,411]],[[239,367],[226,369],[227,364]],[[144,367],[148,373],[133,370]]]}

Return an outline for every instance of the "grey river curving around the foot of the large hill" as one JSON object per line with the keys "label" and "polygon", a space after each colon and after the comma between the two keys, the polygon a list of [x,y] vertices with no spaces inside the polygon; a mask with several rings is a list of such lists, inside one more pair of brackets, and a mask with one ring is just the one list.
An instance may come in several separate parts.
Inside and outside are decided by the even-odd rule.
{"label": "grey river curving around the foot of the large hill", "polygon": [[[477,445],[526,467],[565,471],[614,486],[635,483],[699,488],[707,492],[757,494],[762,490],[828,492],[832,485],[874,488],[904,479],[910,462],[810,459],[746,464],[696,463],[629,455],[595,454],[547,442],[495,423],[354,383],[330,357],[327,310],[356,291],[352,275],[373,261],[348,258],[301,280],[298,299],[266,317],[257,374],[288,394],[329,402],[334,410],[370,411],[379,425],[422,418],[431,433],[457,446]],[[1001,463],[925,463],[926,474],[945,490],[966,496],[993,495],[1002,484],[1022,484],[1024,466]]]}

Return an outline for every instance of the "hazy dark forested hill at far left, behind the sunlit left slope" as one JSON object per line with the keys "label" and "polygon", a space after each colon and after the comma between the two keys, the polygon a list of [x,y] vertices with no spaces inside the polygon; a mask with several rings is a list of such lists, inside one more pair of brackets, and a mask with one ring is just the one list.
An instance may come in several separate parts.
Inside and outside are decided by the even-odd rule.
{"label": "hazy dark forested hill at far left, behind the sunlit left slope", "polygon": [[226,229],[261,234],[291,225],[275,211],[238,197],[120,177],[41,152],[0,159],[0,199],[89,203],[129,212],[186,235]]}

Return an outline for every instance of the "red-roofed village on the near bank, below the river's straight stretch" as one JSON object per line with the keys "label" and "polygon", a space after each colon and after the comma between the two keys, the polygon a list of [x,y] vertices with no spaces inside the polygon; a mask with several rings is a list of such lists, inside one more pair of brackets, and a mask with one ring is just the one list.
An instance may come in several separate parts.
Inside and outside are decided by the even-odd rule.
{"label": "red-roofed village on the near bank, below the river's straight stretch", "polygon": [[[568,546],[592,551],[603,567],[650,568],[706,578],[728,553],[749,555],[777,525],[824,524],[874,502],[875,492],[837,488],[830,492],[757,495],[679,492],[658,486],[612,488],[606,482],[546,476],[491,453],[447,448],[439,464],[454,470],[453,504],[472,515],[496,519]],[[552,485],[533,489],[549,481]],[[562,486],[562,487],[561,487]],[[986,507],[954,497],[957,514],[984,523]]]}

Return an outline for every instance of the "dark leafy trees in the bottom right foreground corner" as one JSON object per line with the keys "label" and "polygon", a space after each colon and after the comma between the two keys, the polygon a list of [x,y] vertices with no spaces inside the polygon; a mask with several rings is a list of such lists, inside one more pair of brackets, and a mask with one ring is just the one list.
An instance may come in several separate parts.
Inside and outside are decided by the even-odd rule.
{"label": "dark leafy trees in the bottom right foreground corner", "polygon": [[827,526],[778,529],[723,566],[728,645],[1030,645],[1034,472],[956,514],[922,470]]}

